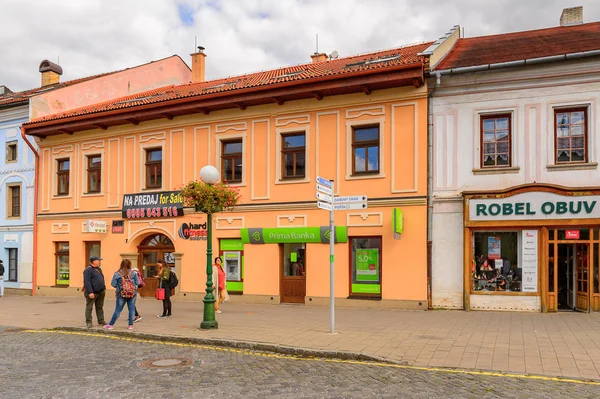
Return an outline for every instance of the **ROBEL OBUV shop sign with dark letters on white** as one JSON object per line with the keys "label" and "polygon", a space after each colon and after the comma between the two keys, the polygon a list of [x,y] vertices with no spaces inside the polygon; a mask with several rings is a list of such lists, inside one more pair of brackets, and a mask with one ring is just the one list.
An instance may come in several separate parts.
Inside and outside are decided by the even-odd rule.
{"label": "ROBEL OBUV shop sign with dark letters on white", "polygon": [[531,192],[506,198],[469,199],[469,220],[544,220],[600,218],[600,196]]}

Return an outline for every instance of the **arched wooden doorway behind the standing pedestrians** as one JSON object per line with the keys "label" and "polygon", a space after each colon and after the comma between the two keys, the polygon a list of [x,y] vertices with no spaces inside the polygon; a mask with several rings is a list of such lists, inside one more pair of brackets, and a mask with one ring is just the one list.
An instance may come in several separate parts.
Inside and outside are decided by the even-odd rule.
{"label": "arched wooden doorway behind the standing pedestrians", "polygon": [[144,238],[138,246],[138,265],[146,285],[139,290],[141,296],[154,296],[158,281],[154,277],[158,273],[156,261],[163,259],[167,266],[175,267],[175,246],[164,234],[152,234]]}

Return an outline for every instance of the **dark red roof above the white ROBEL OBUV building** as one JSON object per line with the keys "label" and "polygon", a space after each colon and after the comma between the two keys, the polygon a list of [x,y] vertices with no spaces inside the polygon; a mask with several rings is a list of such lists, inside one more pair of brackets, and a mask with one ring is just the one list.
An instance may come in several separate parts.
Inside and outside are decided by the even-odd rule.
{"label": "dark red roof above the white ROBEL OBUV building", "polygon": [[600,50],[600,22],[459,39],[435,70]]}

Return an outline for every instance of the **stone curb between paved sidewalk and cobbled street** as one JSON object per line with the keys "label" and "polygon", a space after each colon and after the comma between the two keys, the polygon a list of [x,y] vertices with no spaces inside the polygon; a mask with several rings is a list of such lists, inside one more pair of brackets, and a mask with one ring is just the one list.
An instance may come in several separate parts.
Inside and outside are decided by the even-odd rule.
{"label": "stone curb between paved sidewalk and cobbled street", "polygon": [[50,329],[42,329],[43,331],[74,331],[74,332],[87,332],[93,331],[94,333],[107,334],[107,335],[119,335],[123,337],[136,337],[147,339],[150,341],[157,342],[174,342],[183,344],[197,344],[197,345],[211,345],[222,348],[234,348],[243,349],[257,352],[271,352],[282,355],[293,355],[303,358],[324,358],[324,359],[339,359],[339,360],[356,360],[363,362],[374,362],[374,363],[386,363],[386,364],[397,364],[401,366],[408,366],[407,362],[395,361],[386,359],[378,356],[365,355],[358,352],[348,351],[328,351],[322,349],[310,349],[301,348],[294,346],[270,344],[256,341],[239,341],[232,339],[217,339],[217,338],[192,338],[192,337],[174,337],[171,335],[153,334],[153,333],[140,333],[140,332],[129,332],[129,331],[106,331],[104,329],[88,329],[83,327],[56,327]]}

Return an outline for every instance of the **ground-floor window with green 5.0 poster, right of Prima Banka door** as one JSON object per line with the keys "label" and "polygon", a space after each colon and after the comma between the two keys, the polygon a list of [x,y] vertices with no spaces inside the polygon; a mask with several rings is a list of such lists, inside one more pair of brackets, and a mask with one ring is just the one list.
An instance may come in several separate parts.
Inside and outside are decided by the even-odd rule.
{"label": "ground-floor window with green 5.0 poster, right of Prima Banka door", "polygon": [[381,237],[350,239],[350,294],[381,297]]}

